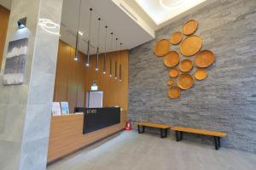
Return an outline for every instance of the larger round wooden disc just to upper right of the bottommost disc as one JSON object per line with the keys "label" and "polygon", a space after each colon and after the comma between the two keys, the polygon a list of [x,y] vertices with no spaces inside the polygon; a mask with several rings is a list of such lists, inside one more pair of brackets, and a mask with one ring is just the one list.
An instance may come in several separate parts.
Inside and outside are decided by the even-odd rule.
{"label": "larger round wooden disc just to upper right of the bottommost disc", "polygon": [[187,73],[181,74],[179,77],[177,77],[177,86],[183,90],[187,90],[189,88],[192,88],[194,85],[194,79],[191,75]]}

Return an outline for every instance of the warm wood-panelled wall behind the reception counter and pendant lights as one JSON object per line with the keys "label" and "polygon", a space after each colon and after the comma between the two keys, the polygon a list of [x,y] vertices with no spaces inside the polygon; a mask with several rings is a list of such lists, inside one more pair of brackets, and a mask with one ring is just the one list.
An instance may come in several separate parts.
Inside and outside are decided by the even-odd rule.
{"label": "warm wood-panelled wall behind the reception counter and pendant lights", "polygon": [[[124,111],[128,110],[128,52],[126,50],[117,54],[108,53],[106,66],[107,74],[102,73],[103,58],[99,58],[99,71],[96,71],[96,55],[90,56],[90,66],[84,67],[84,54],[80,54],[79,61],[74,61],[74,48],[65,42],[59,44],[57,69],[55,77],[55,101],[68,101],[69,110],[80,103],[78,93],[84,93],[84,105],[86,91],[90,90],[92,82],[96,81],[100,90],[104,93],[103,106],[119,105]],[[112,57],[112,71],[114,74],[114,61],[122,64],[122,81],[109,77],[109,62]],[[121,57],[120,57],[121,56]],[[117,69],[119,77],[119,67]]]}

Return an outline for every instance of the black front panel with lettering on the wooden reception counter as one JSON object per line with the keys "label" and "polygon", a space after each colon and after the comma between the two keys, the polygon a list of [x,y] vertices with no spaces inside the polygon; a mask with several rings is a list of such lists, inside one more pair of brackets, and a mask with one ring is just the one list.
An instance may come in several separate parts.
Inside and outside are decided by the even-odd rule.
{"label": "black front panel with lettering on the wooden reception counter", "polygon": [[120,123],[120,108],[84,108],[83,133],[91,133]]}

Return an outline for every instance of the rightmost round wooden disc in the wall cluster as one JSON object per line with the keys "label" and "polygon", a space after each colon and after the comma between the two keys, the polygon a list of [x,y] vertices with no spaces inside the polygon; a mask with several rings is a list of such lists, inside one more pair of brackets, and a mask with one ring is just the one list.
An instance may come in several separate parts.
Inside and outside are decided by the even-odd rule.
{"label": "rightmost round wooden disc in the wall cluster", "polygon": [[195,65],[200,68],[207,68],[215,61],[215,55],[210,50],[201,51],[195,55]]}

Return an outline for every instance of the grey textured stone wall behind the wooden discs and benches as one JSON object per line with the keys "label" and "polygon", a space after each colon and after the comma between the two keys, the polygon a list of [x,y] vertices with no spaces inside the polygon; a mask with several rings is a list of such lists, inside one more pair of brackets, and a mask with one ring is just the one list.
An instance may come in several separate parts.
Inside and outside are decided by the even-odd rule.
{"label": "grey textured stone wall behind the wooden discs and benches", "polygon": [[[199,22],[195,35],[202,37],[202,49],[215,53],[216,62],[207,69],[206,80],[182,91],[179,99],[169,99],[169,69],[163,58],[154,55],[154,44],[182,31],[189,19]],[[131,49],[129,63],[132,122],[224,131],[229,133],[224,147],[256,152],[255,0],[214,0],[206,8],[156,31],[153,41]],[[193,137],[189,139],[207,142],[205,137]]]}

